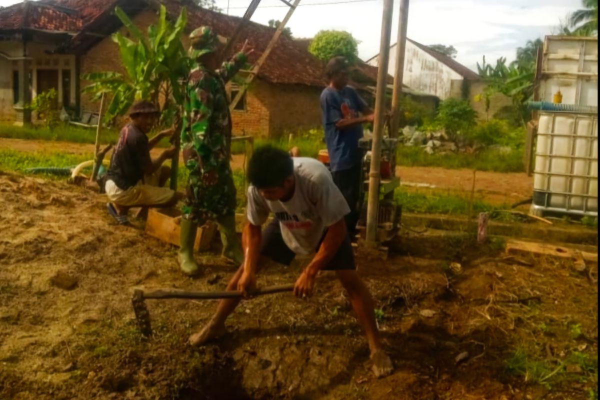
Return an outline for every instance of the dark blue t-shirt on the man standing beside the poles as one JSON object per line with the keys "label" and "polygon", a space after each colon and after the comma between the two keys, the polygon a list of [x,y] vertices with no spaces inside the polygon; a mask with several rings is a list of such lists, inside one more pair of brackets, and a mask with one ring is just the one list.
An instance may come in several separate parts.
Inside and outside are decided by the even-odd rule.
{"label": "dark blue t-shirt on the man standing beside the poles", "polygon": [[350,169],[361,159],[358,140],[362,137],[362,125],[340,130],[335,124],[340,119],[357,118],[366,109],[367,103],[349,86],[341,91],[325,88],[322,92],[321,113],[332,172]]}

